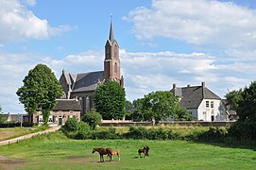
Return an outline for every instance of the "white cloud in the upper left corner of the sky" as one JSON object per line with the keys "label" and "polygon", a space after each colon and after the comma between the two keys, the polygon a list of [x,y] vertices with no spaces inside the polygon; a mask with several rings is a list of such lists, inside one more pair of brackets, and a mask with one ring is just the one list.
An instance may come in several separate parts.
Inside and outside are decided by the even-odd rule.
{"label": "white cloud in the upper left corner of the sky", "polygon": [[[36,5],[34,0],[26,4]],[[49,26],[18,0],[0,0],[0,44],[25,39],[47,39],[71,29],[71,26]]]}

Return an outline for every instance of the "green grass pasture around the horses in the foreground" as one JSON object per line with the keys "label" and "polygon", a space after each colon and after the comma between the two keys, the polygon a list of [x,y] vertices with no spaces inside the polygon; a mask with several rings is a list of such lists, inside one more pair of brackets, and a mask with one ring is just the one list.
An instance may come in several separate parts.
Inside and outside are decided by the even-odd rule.
{"label": "green grass pasture around the horses in the foreground", "polygon": [[[150,147],[149,158],[137,150]],[[111,147],[121,154],[99,162],[94,147]],[[0,146],[0,169],[253,169],[256,151],[186,141],[70,140],[60,132]]]}

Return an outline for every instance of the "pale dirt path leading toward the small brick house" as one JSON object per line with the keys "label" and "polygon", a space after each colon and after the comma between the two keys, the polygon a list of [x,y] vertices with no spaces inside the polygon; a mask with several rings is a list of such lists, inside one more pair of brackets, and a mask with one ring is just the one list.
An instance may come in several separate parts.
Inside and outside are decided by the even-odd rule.
{"label": "pale dirt path leading toward the small brick house", "polygon": [[10,139],[10,140],[1,141],[0,145],[16,143],[16,142],[19,142],[21,140],[25,140],[27,138],[31,138],[31,137],[39,135],[39,134],[46,134],[46,133],[54,132],[54,131],[59,130],[59,129],[60,129],[59,126],[58,127],[51,127],[51,128],[48,128],[44,131],[39,131],[39,132],[36,132],[36,133],[30,133],[30,134],[20,136],[20,137],[17,137],[17,138],[13,138],[13,139]]}

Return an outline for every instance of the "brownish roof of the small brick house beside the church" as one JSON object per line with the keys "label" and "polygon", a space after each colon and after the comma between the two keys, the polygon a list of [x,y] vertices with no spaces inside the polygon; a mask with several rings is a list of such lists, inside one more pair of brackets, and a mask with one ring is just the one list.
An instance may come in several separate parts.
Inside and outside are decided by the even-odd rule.
{"label": "brownish roof of the small brick house beside the church", "polygon": [[57,105],[52,110],[81,110],[81,106],[76,99],[56,99]]}

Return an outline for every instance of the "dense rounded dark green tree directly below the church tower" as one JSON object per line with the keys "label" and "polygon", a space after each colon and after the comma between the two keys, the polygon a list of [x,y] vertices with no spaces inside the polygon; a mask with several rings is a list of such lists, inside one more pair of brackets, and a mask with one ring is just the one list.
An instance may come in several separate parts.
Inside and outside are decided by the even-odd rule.
{"label": "dense rounded dark green tree directly below the church tower", "polygon": [[125,115],[126,93],[115,81],[105,81],[94,93],[96,110],[103,119],[122,119]]}

